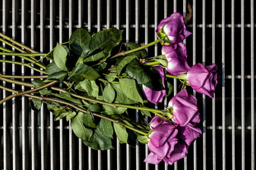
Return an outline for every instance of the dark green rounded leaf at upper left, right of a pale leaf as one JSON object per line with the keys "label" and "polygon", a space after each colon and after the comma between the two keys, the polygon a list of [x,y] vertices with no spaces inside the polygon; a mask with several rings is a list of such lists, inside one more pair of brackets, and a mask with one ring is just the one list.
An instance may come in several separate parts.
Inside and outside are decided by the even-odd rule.
{"label": "dark green rounded leaf at upper left, right of a pale leaf", "polygon": [[84,57],[90,52],[90,41],[91,35],[85,29],[79,28],[76,31],[72,32],[69,44],[72,52],[76,55]]}

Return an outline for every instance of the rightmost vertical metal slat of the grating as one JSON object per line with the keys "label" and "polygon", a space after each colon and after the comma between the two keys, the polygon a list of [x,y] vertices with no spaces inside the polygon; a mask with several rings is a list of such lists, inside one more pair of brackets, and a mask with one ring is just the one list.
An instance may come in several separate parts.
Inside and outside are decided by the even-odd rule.
{"label": "rightmost vertical metal slat of the grating", "polygon": [[[251,0],[251,25],[254,25],[254,1]],[[251,27],[251,77],[254,77],[254,27]],[[251,79],[251,125],[254,127],[254,78]],[[255,169],[255,129],[251,132],[251,169]]]}

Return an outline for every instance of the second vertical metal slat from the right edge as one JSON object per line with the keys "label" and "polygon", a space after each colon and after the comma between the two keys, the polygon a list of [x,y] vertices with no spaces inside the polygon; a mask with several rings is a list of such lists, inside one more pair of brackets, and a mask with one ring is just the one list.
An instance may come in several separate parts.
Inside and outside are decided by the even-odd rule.
{"label": "second vertical metal slat from the right edge", "polygon": [[241,0],[241,124],[242,124],[242,170],[245,170],[245,134],[244,134],[244,0]]}

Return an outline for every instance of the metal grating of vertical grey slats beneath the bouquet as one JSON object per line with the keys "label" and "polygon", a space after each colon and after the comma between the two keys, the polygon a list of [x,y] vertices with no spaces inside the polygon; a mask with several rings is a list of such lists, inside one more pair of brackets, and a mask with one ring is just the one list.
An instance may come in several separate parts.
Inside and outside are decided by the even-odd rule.
{"label": "metal grating of vertical grey slats beneath the bouquet", "polygon": [[[1,0],[0,31],[39,52],[48,52],[57,41],[68,41],[77,27],[90,32],[109,27],[125,29],[127,41],[147,44],[156,39],[154,31],[161,19],[175,11],[183,15],[188,12],[186,3]],[[69,122],[54,122],[44,106],[35,113],[28,98],[18,97],[0,106],[0,169],[255,169],[254,2],[189,3],[193,17],[187,27],[193,34],[185,41],[188,62],[218,64],[219,83],[213,99],[194,92],[204,134],[191,144],[185,159],[174,166],[144,164],[148,154],[145,145],[120,145],[117,139],[116,150],[91,150],[72,134]],[[149,48],[148,53],[161,53],[161,46]],[[0,64],[0,70],[3,74],[37,74],[12,64]],[[177,93],[179,83],[173,83]],[[1,90],[1,99],[8,95]]]}

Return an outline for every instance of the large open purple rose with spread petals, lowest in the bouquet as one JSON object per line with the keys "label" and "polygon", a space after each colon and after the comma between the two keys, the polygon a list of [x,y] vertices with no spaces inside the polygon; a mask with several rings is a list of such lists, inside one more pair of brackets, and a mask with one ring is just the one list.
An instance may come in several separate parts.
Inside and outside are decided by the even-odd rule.
{"label": "large open purple rose with spread petals, lowest in the bouquet", "polygon": [[195,124],[184,127],[173,125],[157,115],[150,121],[150,128],[154,130],[148,142],[150,153],[144,160],[150,164],[159,164],[164,160],[166,164],[172,165],[186,157],[188,146],[202,133]]}

